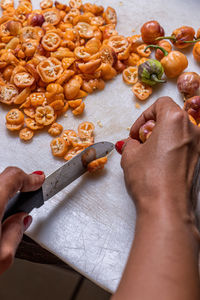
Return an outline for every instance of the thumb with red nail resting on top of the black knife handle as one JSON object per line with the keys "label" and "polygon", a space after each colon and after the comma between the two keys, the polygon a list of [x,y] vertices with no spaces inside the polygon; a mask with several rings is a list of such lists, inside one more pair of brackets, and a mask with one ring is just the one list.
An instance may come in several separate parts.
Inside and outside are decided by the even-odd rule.
{"label": "thumb with red nail resting on top of the black knife handle", "polygon": [[44,182],[45,175],[26,174],[16,167],[8,167],[0,174],[0,212],[3,215],[8,200],[18,191],[38,190]]}

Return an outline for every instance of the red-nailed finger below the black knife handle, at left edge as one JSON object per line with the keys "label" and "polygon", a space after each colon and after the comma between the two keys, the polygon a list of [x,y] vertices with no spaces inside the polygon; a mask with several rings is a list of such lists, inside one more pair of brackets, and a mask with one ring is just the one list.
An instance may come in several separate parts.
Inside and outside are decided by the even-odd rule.
{"label": "red-nailed finger below the black knife handle, at left edge", "polygon": [[0,274],[12,265],[17,247],[31,222],[32,217],[26,213],[15,214],[4,221],[0,244]]}

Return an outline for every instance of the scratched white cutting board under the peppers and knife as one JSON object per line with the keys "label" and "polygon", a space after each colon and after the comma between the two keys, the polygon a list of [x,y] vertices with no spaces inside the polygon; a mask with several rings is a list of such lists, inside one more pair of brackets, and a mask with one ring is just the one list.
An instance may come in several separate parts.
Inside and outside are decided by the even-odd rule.
{"label": "scratched white cutting board under the peppers and knife", "polygon": [[[35,8],[37,3],[34,0]],[[151,19],[161,23],[166,35],[181,25],[200,27],[199,0],[98,0],[95,3],[116,9],[117,30],[127,36],[139,33],[141,25]],[[199,72],[191,50],[185,52],[189,58],[187,70]],[[66,129],[76,130],[79,122],[91,121],[96,125],[96,141],[116,142],[127,137],[127,127],[164,95],[183,106],[175,81],[168,81],[156,87],[151,98],[137,110],[131,87],[119,75],[106,84],[104,91],[87,97],[82,117],[74,118],[68,112],[68,117],[62,117],[60,123]],[[47,133],[36,135],[27,144],[9,133],[4,125],[6,113],[7,109],[0,107],[0,171],[15,165],[26,172],[43,170],[48,175],[63,164],[52,157],[51,137]],[[98,120],[103,128],[97,125]],[[118,153],[111,155],[106,170],[99,176],[83,176],[42,208],[34,210],[32,216],[30,237],[98,285],[111,292],[116,290],[131,247],[136,218],[124,186]]]}

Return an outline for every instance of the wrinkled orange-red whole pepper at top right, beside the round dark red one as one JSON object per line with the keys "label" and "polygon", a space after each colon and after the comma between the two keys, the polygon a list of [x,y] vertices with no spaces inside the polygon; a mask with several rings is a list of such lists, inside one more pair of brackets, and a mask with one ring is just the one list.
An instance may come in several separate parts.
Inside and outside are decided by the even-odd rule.
{"label": "wrinkled orange-red whole pepper at top right, beside the round dark red one", "polygon": [[156,40],[170,39],[175,47],[182,49],[190,46],[190,43],[196,43],[194,40],[195,31],[190,26],[182,26],[175,29],[171,36],[159,37]]}

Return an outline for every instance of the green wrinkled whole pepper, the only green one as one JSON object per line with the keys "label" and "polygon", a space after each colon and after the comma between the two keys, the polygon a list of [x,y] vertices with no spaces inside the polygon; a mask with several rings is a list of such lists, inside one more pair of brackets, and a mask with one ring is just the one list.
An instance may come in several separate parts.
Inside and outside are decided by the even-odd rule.
{"label": "green wrinkled whole pepper, the only green one", "polygon": [[139,80],[150,86],[165,82],[165,80],[161,79],[163,73],[163,66],[156,59],[148,59],[138,67]]}

